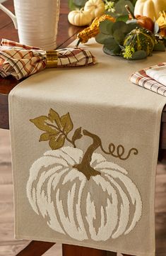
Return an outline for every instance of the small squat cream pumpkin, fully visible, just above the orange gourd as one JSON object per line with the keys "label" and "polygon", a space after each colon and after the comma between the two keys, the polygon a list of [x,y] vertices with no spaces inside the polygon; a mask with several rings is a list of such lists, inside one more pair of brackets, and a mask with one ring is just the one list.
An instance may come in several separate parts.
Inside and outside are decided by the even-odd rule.
{"label": "small squat cream pumpkin, fully visible, just above the orange gourd", "polygon": [[76,10],[69,12],[68,21],[74,26],[86,26],[91,23],[93,16],[90,11]]}

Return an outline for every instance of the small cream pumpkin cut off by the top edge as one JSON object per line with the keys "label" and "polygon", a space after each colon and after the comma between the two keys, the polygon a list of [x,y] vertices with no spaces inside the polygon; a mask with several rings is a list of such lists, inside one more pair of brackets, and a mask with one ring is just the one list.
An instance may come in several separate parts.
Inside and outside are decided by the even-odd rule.
{"label": "small cream pumpkin cut off by the top edge", "polygon": [[88,0],[85,2],[85,11],[90,11],[93,18],[102,16],[105,13],[105,3],[102,0]]}

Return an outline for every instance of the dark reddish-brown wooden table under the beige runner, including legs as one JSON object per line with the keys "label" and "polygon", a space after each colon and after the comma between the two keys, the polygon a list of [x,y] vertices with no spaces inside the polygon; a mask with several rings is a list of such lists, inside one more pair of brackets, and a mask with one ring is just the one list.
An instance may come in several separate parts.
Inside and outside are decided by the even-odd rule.
{"label": "dark reddish-brown wooden table under the beige runner, including legs", "polygon": [[[68,1],[61,0],[59,30],[57,37],[57,48],[64,48],[74,39],[78,31],[83,28],[71,26],[67,21],[69,13]],[[8,0],[4,3],[8,9],[13,11],[13,0]],[[13,11],[14,12],[14,11]],[[0,10],[0,40],[7,38],[18,41],[18,33],[15,30],[11,19]],[[8,94],[19,82],[12,77],[6,79],[0,78],[0,128],[9,129],[8,124]],[[162,111],[162,123],[160,131],[160,150],[159,159],[166,156],[166,107]],[[166,157],[165,157],[166,158]],[[18,253],[17,256],[40,256],[49,250],[54,243],[32,241],[24,250]],[[105,250],[97,250],[88,247],[80,247],[76,245],[62,245],[63,256],[116,256],[115,252],[107,252]],[[124,255],[128,256],[128,255]]]}

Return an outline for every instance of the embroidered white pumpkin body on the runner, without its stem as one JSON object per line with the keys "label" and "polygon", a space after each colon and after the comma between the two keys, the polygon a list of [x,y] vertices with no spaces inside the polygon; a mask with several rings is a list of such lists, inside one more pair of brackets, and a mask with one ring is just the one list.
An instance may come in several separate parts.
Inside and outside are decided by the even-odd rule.
{"label": "embroidered white pumpkin body on the runner, without its stem", "polygon": [[45,152],[30,168],[27,196],[47,225],[76,240],[105,241],[126,235],[141,218],[142,201],[124,168],[93,153],[90,166],[100,172],[87,179],[73,168],[83,151],[63,147]]}

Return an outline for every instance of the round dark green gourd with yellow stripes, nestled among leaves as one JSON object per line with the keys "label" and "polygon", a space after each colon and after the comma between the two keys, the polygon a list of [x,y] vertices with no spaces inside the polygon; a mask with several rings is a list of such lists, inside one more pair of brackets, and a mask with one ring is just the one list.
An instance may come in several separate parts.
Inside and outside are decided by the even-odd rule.
{"label": "round dark green gourd with yellow stripes, nestled among leaves", "polygon": [[[146,56],[149,56],[153,52],[154,46],[155,36],[146,28],[135,28],[124,39],[124,52],[129,49],[131,52],[144,51]],[[126,58],[129,59],[129,57]]]}

